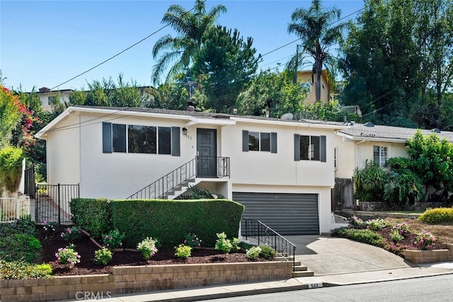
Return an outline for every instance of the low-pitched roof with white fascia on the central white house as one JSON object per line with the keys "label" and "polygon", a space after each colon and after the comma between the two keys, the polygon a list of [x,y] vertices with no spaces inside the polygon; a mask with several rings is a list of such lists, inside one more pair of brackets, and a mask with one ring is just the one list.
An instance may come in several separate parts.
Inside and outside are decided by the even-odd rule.
{"label": "low-pitched roof with white fascia on the central white house", "polygon": [[226,113],[216,112],[197,112],[188,110],[167,110],[159,108],[130,108],[130,107],[97,107],[97,106],[71,106],[68,107],[62,114],[52,120],[47,126],[42,128],[35,137],[43,139],[45,133],[51,130],[55,125],[70,114],[76,112],[96,112],[105,114],[105,120],[115,120],[117,116],[146,116],[146,117],[161,117],[169,119],[185,120],[185,127],[193,124],[212,124],[226,126],[236,124],[236,122],[250,122],[256,124],[275,124],[275,125],[291,125],[296,127],[316,127],[320,129],[343,129],[346,127],[341,122],[328,122],[319,120],[282,120],[275,117],[256,117],[244,115],[229,115]]}

